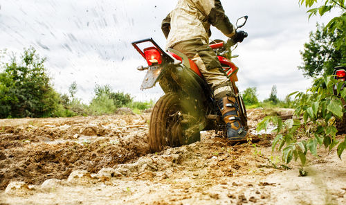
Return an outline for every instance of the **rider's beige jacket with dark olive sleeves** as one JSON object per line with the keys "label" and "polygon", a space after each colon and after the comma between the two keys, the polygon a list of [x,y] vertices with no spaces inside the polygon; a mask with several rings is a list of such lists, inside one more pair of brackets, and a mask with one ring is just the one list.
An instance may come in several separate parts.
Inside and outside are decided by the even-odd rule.
{"label": "rider's beige jacket with dark olive sleeves", "polygon": [[176,8],[162,22],[167,48],[191,39],[209,42],[210,25],[227,37],[235,35],[235,28],[225,15],[220,0],[179,0]]}

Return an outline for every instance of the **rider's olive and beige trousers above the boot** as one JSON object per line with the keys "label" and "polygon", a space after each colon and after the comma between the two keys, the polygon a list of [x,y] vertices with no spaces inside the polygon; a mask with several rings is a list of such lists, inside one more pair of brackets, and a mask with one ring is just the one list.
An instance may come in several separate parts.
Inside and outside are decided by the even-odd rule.
{"label": "rider's olive and beige trousers above the boot", "polygon": [[194,39],[180,42],[174,45],[173,49],[184,53],[197,64],[199,71],[212,88],[216,100],[225,96],[235,96],[230,87],[230,80],[222,69],[217,55],[204,40]]}

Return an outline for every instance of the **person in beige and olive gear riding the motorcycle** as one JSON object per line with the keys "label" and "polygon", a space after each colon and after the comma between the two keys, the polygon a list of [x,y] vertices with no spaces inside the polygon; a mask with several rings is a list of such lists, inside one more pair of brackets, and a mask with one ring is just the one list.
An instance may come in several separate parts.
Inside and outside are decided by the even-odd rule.
{"label": "person in beige and olive gear riding the motorcycle", "polygon": [[210,25],[235,42],[247,33],[236,31],[225,15],[220,0],[179,0],[176,8],[162,22],[167,48],[174,48],[192,59],[210,85],[221,111],[230,141],[244,141],[248,132],[239,123],[239,107],[230,80],[210,48]]}

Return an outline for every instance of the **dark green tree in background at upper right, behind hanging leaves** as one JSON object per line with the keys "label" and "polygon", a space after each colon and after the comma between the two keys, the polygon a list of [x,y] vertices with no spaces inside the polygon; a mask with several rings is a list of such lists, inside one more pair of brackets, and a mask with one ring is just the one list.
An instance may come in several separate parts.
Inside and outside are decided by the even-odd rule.
{"label": "dark green tree in background at upper right, behind hanging leaves", "polygon": [[329,33],[324,26],[316,25],[316,33],[310,33],[309,43],[300,52],[304,65],[299,66],[305,76],[316,78],[318,75],[331,75],[339,63],[346,63],[346,46],[336,48],[334,44],[345,35],[345,30]]}

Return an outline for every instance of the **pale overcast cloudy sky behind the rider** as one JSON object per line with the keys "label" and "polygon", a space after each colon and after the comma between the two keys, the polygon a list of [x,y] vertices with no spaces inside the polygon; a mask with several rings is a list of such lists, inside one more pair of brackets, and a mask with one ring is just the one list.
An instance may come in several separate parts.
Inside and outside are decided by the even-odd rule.
{"label": "pale overcast cloudy sky behind the rider", "polygon": [[[76,96],[84,103],[93,97],[95,84],[109,84],[114,91],[130,93],[134,100],[158,100],[163,91],[140,90],[145,71],[136,67],[145,60],[131,46],[152,37],[165,48],[161,21],[177,0],[1,0],[0,50],[23,53],[33,46],[46,57],[46,69],[59,93],[78,84]],[[221,0],[226,15],[235,24],[248,15],[242,28],[248,38],[239,44],[233,62],[239,67],[240,91],[256,87],[260,100],[268,98],[273,85],[283,99],[304,91],[311,80],[304,78],[300,51],[316,30],[336,14],[308,19],[307,8],[298,0]],[[212,29],[210,39],[224,39]],[[0,59],[1,61],[1,59]]]}

